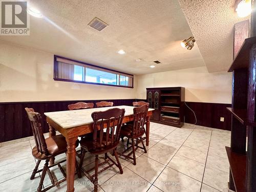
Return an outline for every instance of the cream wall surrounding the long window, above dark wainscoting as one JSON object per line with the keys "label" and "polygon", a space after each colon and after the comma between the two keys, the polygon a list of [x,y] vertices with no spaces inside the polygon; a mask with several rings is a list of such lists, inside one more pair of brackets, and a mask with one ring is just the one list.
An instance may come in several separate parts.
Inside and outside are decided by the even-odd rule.
{"label": "cream wall surrounding the long window, above dark wainscoting", "polygon": [[[65,55],[64,55],[65,56]],[[134,99],[135,88],[53,80],[53,54],[0,41],[0,102]]]}

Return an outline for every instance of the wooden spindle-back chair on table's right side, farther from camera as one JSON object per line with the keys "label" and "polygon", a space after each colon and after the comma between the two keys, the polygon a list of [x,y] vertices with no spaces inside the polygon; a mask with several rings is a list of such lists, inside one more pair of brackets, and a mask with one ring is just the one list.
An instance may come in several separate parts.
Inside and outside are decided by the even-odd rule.
{"label": "wooden spindle-back chair on table's right side, farther from camera", "polygon": [[[144,152],[147,153],[146,147],[145,147],[143,139],[142,139],[142,136],[145,133],[144,125],[146,122],[147,111],[148,111],[148,106],[146,104],[139,106],[137,108],[134,108],[133,109],[133,112],[134,112],[133,124],[125,124],[121,127],[120,136],[127,137],[128,140],[127,140],[126,150],[124,150],[122,153],[119,153],[119,154],[126,158],[132,159],[134,165],[136,165],[135,151],[138,148],[142,148],[144,150]],[[129,139],[132,140],[132,143],[129,143]],[[136,143],[135,143],[134,139],[136,139]],[[140,139],[140,142],[142,143],[143,147],[138,146],[138,143],[139,143],[138,139]],[[129,144],[132,144],[132,145],[130,147],[128,147]],[[133,151],[131,153],[129,153],[128,155],[124,155],[124,153],[129,151],[131,147],[132,147]],[[133,157],[130,157],[132,154],[133,154]]]}

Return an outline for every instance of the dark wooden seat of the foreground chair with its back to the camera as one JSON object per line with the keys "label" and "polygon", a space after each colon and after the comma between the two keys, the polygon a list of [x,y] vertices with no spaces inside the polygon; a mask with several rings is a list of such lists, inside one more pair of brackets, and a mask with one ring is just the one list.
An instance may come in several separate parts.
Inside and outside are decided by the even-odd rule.
{"label": "dark wooden seat of the foreground chair with its back to the camera", "polygon": [[[111,144],[111,137],[110,137],[111,135],[109,135],[109,139],[108,139],[108,142],[106,143],[105,142],[105,138],[106,138],[106,133],[103,133],[103,141],[102,141],[102,143],[101,143],[101,145],[100,145],[100,143],[99,143],[99,137],[97,137],[97,140],[96,140],[96,147],[98,148],[97,150],[94,150],[93,149],[93,137],[91,137],[91,136],[88,136],[88,137],[84,137],[84,138],[81,138],[81,140],[80,140],[80,145],[81,145],[81,147],[83,147],[83,148],[86,148],[87,149],[87,151],[88,152],[90,152],[90,153],[92,153],[92,154],[100,154],[101,153],[101,150],[99,149],[99,147],[100,148],[102,148],[102,151],[108,151],[108,150],[112,150],[113,148],[115,148],[116,146],[111,146],[109,149],[106,149],[106,148],[104,148],[106,145],[109,145],[109,144]],[[114,138],[115,138],[115,135],[113,136]],[[117,141],[116,142],[117,144],[119,143],[119,141]],[[116,144],[116,145],[117,145]]]}

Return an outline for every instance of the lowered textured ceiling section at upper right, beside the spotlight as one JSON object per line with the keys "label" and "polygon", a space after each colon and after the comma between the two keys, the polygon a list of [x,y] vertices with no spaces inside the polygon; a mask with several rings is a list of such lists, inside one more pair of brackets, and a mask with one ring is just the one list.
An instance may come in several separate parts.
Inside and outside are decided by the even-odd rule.
{"label": "lowered textured ceiling section at upper right, beside the spotlight", "polygon": [[233,59],[233,26],[241,20],[234,0],[179,0],[209,72],[227,71]]}

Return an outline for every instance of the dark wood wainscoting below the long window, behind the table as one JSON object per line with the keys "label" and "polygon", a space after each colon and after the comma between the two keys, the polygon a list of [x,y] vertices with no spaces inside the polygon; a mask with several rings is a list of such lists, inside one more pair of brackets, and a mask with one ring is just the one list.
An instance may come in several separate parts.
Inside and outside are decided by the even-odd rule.
{"label": "dark wood wainscoting below the long window, behind the table", "polygon": [[[105,100],[105,99],[104,99]],[[25,108],[33,108],[42,116],[44,133],[49,132],[45,112],[66,111],[69,104],[76,102],[99,102],[101,100],[75,100],[75,101],[39,101],[39,102],[6,102],[0,103],[0,142],[32,136],[30,122]],[[117,105],[133,105],[136,99],[105,100]],[[96,105],[94,106],[96,107]]]}

